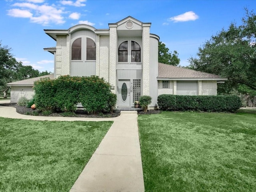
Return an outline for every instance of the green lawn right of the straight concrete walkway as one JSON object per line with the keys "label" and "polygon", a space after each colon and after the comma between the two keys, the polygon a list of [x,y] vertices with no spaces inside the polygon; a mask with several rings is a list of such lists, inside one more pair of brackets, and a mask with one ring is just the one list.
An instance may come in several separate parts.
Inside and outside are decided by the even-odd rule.
{"label": "green lawn right of the straight concrete walkway", "polygon": [[140,115],[146,192],[254,192],[256,113]]}

